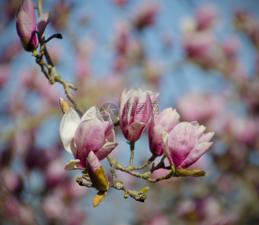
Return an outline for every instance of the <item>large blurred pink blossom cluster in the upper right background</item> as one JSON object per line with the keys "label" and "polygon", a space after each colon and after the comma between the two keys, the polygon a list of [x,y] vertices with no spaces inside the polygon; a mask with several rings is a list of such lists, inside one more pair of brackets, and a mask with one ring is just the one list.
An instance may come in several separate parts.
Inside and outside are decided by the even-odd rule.
{"label": "large blurred pink blossom cluster in the upper right background", "polygon": [[217,69],[239,85],[248,80],[247,69],[237,58],[240,41],[237,36],[230,36],[225,43],[217,40],[214,27],[218,14],[215,5],[203,5],[195,18],[184,20],[183,47],[190,61],[204,69]]}

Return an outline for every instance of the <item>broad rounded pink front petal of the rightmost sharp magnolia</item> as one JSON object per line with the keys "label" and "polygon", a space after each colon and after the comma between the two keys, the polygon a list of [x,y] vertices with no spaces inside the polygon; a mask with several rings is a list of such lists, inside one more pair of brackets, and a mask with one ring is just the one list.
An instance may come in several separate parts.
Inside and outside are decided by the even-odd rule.
{"label": "broad rounded pink front petal of the rightmost sharp magnolia", "polygon": [[186,159],[197,142],[197,131],[192,124],[182,122],[173,128],[169,133],[168,146],[176,168]]}

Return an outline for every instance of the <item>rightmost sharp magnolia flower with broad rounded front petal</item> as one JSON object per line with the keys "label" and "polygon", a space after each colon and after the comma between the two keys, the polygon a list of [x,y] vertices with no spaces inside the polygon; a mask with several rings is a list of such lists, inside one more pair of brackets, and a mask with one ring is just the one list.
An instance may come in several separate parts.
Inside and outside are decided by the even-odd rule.
{"label": "rightmost sharp magnolia flower with broad rounded front petal", "polygon": [[185,169],[195,163],[208,149],[214,132],[204,134],[206,127],[197,122],[177,124],[170,133],[163,132],[163,149],[171,166]]}

